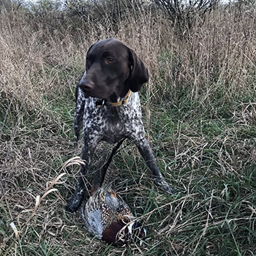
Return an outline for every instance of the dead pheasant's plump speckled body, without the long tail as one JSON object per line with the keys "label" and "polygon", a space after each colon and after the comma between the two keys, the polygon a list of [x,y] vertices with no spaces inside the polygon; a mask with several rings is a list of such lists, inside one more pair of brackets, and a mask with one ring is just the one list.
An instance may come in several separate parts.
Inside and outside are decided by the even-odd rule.
{"label": "dead pheasant's plump speckled body, without the long tail", "polygon": [[[129,223],[134,219],[132,212],[112,189],[98,188],[82,206],[81,214],[86,229],[108,243],[118,241],[117,234],[121,229],[127,228],[128,235],[132,233],[132,226],[129,228]],[[134,224],[135,222],[132,223]],[[127,240],[127,237],[124,240]]]}

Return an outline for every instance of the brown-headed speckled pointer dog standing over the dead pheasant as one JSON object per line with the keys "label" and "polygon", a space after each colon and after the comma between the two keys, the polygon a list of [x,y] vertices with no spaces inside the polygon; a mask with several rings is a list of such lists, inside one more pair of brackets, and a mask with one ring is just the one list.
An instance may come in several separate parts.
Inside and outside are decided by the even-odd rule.
{"label": "brown-headed speckled pointer dog standing over the dead pheasant", "polygon": [[[75,91],[74,130],[77,141],[83,127],[80,178],[67,211],[76,211],[85,195],[83,176],[89,170],[97,144],[132,140],[154,178],[154,184],[168,194],[175,190],[165,181],[145,138],[138,91],[148,82],[148,69],[135,52],[118,39],[104,39],[91,45],[86,71]],[[104,173],[104,172],[99,172]],[[102,181],[102,177],[99,177]]]}

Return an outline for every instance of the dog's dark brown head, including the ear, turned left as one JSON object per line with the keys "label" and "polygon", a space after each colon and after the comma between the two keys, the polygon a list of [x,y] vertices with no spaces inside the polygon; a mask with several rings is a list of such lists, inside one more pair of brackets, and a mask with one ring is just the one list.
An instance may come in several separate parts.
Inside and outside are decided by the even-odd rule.
{"label": "dog's dark brown head, including the ear, turned left", "polygon": [[78,86],[86,97],[115,101],[129,89],[139,91],[147,81],[148,70],[140,58],[123,42],[111,38],[91,45]]}

